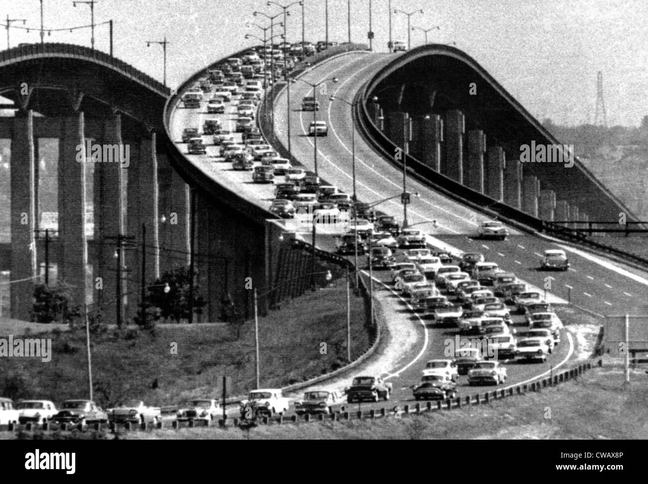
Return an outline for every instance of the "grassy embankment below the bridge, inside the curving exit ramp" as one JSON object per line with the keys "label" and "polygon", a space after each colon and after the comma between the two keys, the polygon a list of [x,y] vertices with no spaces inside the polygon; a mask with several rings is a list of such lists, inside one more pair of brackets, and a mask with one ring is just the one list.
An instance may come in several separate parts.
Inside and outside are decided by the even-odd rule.
{"label": "grassy embankment below the bridge, inside the curving exit ramp", "polygon": [[[360,297],[351,301],[351,320],[351,356],[357,358],[369,347]],[[38,337],[52,338],[51,362],[0,358],[0,396],[57,403],[87,398],[85,328]],[[286,386],[343,365],[346,337],[345,281],[284,303],[281,310],[259,319],[261,386]],[[100,406],[125,398],[156,406],[184,398],[220,398],[223,376],[228,395],[254,387],[253,321],[242,327],[238,340],[226,325],[108,330],[91,339],[94,398]],[[177,343],[177,354],[171,354],[172,343]],[[327,345],[326,354],[320,352],[321,343]]]}

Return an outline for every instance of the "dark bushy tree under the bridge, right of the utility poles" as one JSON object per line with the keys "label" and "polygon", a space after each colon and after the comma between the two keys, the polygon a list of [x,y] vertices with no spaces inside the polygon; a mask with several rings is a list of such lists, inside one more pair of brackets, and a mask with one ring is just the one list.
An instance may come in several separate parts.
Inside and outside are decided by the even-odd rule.
{"label": "dark bushy tree under the bridge, right of the utility poles", "polygon": [[[200,286],[196,282],[198,271],[194,271],[194,313],[202,314],[202,308],[207,304],[200,295]],[[162,277],[156,279],[154,284],[148,286],[146,295],[146,315],[157,321],[161,317],[180,322],[181,319],[189,318],[189,267],[176,267],[165,272]],[[168,287],[168,290],[167,290]]]}

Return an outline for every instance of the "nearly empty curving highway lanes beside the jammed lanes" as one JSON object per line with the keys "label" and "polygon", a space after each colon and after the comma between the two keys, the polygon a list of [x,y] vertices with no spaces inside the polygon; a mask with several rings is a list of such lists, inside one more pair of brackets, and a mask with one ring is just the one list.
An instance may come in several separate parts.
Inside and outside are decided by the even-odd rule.
{"label": "nearly empty curving highway lanes beside the jammed lanes", "polygon": [[[365,54],[352,62],[336,59],[316,65],[303,76],[309,82],[319,82],[331,76],[338,76],[338,84],[330,84],[327,95],[319,95],[321,110],[318,119],[329,124],[329,135],[318,139],[318,168],[320,175],[346,192],[352,192],[351,170],[351,126],[353,121],[349,106],[341,102],[330,102],[332,94],[346,100],[353,100],[373,73],[398,54]],[[291,93],[292,152],[308,168],[314,168],[314,143],[305,133],[312,121],[312,113],[300,111],[301,98],[312,95],[310,86],[297,82]],[[277,100],[278,106],[285,106],[285,94]],[[277,111],[277,120],[285,117],[285,109]],[[283,120],[277,122],[277,134],[287,141]],[[356,133],[356,187],[358,199],[375,202],[399,194],[402,191],[402,170],[393,167],[389,161],[378,156],[371,146]],[[437,228],[421,224],[419,228],[434,235],[461,251],[481,251],[487,260],[518,274],[522,279],[539,288],[548,286],[548,294],[566,299],[571,288],[572,302],[598,314],[622,314],[623,312],[645,313],[648,311],[648,273],[634,270],[623,264],[612,262],[604,256],[592,257],[585,251],[569,253],[572,268],[567,273],[538,271],[540,256],[545,249],[570,250],[562,244],[535,235],[520,233],[509,227],[511,236],[504,242],[482,241],[472,238],[476,227],[485,216],[431,190],[413,179],[408,179],[408,191],[421,194],[412,198],[408,207],[411,224],[437,221]],[[390,200],[378,208],[402,220],[400,200]],[[540,255],[538,255],[540,254]],[[595,260],[596,259],[596,260]]]}

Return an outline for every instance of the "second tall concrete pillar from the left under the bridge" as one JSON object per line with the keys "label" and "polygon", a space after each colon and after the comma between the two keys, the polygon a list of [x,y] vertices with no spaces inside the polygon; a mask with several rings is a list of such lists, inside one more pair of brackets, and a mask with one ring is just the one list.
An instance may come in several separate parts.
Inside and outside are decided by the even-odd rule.
{"label": "second tall concrete pillar from the left under the bridge", "polygon": [[82,111],[64,120],[58,157],[58,274],[71,286],[75,304],[91,302],[86,288],[86,171],[91,154],[86,153],[84,130]]}

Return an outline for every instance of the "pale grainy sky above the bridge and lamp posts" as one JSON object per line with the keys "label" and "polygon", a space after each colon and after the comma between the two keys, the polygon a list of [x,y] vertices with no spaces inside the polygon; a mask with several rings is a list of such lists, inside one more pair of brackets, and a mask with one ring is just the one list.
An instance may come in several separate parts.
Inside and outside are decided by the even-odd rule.
{"label": "pale grainy sky above the bridge and lamp posts", "polygon": [[[351,2],[351,40],[367,41],[369,0]],[[89,25],[89,5],[73,0],[42,0],[45,29]],[[325,38],[325,0],[304,0],[305,38]],[[280,3],[287,5],[288,0]],[[374,50],[386,52],[389,0],[371,0]],[[596,75],[603,72],[609,126],[638,126],[648,115],[648,1],[646,0],[391,0],[392,9],[411,16],[411,25],[439,30],[430,43],[456,43],[502,84],[535,117],[558,124],[594,122]],[[124,62],[162,80],[160,45],[146,41],[167,38],[167,84],[178,87],[205,65],[238,51],[262,37],[246,23],[268,25],[253,17],[258,10],[281,12],[262,0],[97,0],[95,23],[113,19],[114,54]],[[301,41],[301,6],[290,8],[288,41]],[[38,42],[40,0],[0,0],[0,23],[6,16],[25,19],[25,30],[11,29],[10,44]],[[275,21],[280,21],[277,17]],[[12,25],[23,27],[21,22]],[[393,40],[408,39],[407,17],[392,15]],[[411,31],[412,47],[424,34]],[[6,48],[6,30],[0,48]],[[90,29],[45,34],[45,41],[90,45]],[[108,25],[95,29],[95,47],[108,52]],[[347,41],[347,0],[329,0],[329,40]]]}

